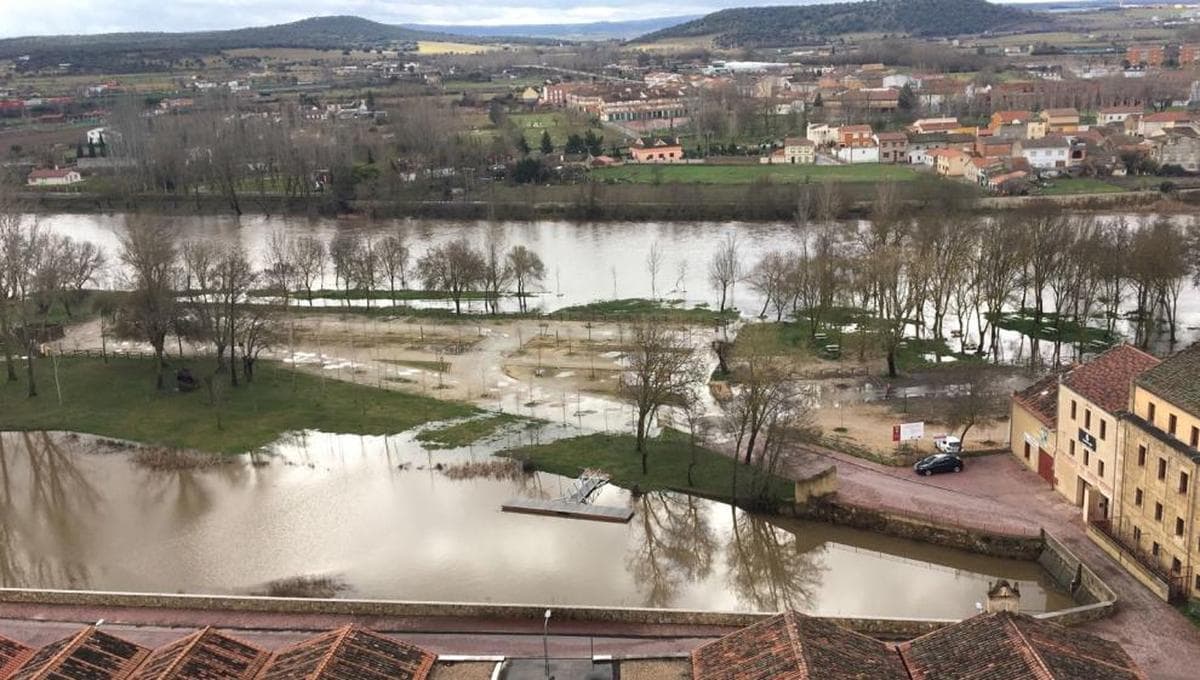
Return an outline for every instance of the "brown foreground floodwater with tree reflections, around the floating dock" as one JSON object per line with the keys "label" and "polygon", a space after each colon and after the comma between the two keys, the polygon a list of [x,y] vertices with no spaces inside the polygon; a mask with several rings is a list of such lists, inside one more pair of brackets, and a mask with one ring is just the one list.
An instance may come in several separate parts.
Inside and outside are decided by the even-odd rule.
{"label": "brown foreground floodwater with tree reflections, around the floating dock", "polygon": [[452,451],[413,437],[305,433],[254,461],[168,473],[86,438],[0,434],[0,585],[247,594],[326,577],[343,597],[959,618],[1002,577],[1025,610],[1072,604],[1033,562],[680,494],[602,489],[595,503],[632,506],[629,524],[505,513],[571,480],[434,465],[530,434]]}

